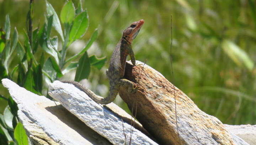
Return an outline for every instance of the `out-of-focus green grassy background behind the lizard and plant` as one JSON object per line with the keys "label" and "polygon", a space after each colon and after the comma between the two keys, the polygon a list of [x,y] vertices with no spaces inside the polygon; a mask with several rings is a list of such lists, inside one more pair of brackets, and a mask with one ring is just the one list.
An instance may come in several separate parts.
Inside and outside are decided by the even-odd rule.
{"label": "out-of-focus green grassy background behind the lizard and plant", "polygon": [[[60,17],[65,0],[49,0],[49,3]],[[78,0],[73,3],[78,6]],[[108,67],[122,31],[131,22],[144,19],[132,44],[137,60],[147,60],[148,65],[185,92],[202,111],[223,123],[256,123],[254,1],[93,0],[82,1],[82,5],[90,16],[88,31],[82,39],[87,42],[98,28],[94,53],[107,56],[103,70]],[[26,39],[22,32],[26,28],[28,8],[27,0],[0,0],[0,26],[4,26],[5,16],[9,14],[11,32],[16,26],[20,41]],[[45,1],[36,0],[34,28],[42,27],[45,13]],[[171,25],[174,78],[170,63]],[[58,35],[56,31],[52,34]],[[68,50],[69,57],[74,54],[72,49]],[[10,64],[10,67],[15,66]],[[95,80],[97,84],[108,85],[104,71],[91,68],[89,81]],[[2,86],[0,94],[8,94]],[[3,110],[7,102],[0,101]]]}

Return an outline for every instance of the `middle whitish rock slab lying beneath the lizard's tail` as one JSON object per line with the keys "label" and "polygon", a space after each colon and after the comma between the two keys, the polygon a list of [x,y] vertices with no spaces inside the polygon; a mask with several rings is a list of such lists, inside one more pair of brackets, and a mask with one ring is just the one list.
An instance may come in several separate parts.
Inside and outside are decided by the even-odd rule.
{"label": "middle whitish rock slab lying beneath the lizard's tail", "polygon": [[[49,85],[48,93],[88,127],[108,139],[112,144],[130,143],[131,125],[123,122],[121,118],[106,107],[91,100],[90,97],[74,85],[54,81]],[[131,144],[157,145],[148,136],[135,128],[132,132]]]}

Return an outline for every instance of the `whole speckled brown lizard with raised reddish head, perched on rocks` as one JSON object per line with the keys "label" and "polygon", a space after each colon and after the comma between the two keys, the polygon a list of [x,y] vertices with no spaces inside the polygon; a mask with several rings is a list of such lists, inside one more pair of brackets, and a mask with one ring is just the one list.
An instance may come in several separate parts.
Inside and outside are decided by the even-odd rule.
{"label": "whole speckled brown lizard with raised reddish head, perched on rocks", "polygon": [[119,40],[114,49],[108,70],[106,70],[107,78],[110,81],[109,93],[106,98],[97,96],[94,92],[76,81],[62,81],[64,83],[73,84],[75,87],[84,91],[92,100],[99,104],[108,104],[114,101],[116,98],[120,86],[127,86],[128,91],[134,93],[137,91],[137,86],[134,87],[133,82],[127,79],[123,79],[124,70],[126,67],[126,58],[130,55],[132,64],[135,66],[135,56],[132,50],[132,41],[142,27],[144,20],[133,22],[128,28],[123,31],[123,36]]}

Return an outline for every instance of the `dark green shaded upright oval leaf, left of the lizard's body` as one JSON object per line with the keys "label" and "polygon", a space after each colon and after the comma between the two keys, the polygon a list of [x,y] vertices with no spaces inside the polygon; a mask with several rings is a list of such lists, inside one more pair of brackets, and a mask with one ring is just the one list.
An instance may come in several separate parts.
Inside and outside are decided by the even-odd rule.
{"label": "dark green shaded upright oval leaf, left of the lizard's body", "polygon": [[91,66],[90,59],[87,52],[82,55],[78,62],[78,68],[76,69],[75,81],[79,82],[82,79],[87,79],[90,74]]}

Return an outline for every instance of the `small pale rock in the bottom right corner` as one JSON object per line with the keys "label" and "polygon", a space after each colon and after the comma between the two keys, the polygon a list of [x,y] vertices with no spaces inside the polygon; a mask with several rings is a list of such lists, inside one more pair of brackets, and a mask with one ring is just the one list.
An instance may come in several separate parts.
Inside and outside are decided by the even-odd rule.
{"label": "small pale rock in the bottom right corner", "polygon": [[224,125],[229,132],[239,136],[248,144],[256,145],[256,125]]}

